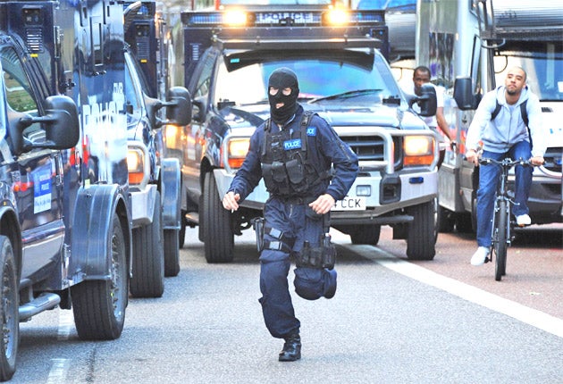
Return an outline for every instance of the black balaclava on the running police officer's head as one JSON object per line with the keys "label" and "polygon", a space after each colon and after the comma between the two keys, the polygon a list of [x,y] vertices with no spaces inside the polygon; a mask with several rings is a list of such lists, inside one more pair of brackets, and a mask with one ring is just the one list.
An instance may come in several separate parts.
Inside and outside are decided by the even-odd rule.
{"label": "black balaclava on the running police officer's head", "polygon": [[[278,88],[278,93],[270,95],[270,87]],[[285,96],[281,93],[283,88],[291,88],[291,94]],[[298,109],[297,99],[299,96],[298,79],[295,72],[289,68],[280,68],[272,72],[268,80],[268,99],[270,100],[270,113],[272,120],[277,124],[283,124],[290,120],[290,117]],[[275,104],[283,103],[283,106],[276,109]]]}

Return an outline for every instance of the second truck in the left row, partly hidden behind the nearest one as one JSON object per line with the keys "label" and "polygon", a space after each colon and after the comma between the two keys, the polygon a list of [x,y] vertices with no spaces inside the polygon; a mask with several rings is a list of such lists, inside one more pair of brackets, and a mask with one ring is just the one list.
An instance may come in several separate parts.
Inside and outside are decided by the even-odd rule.
{"label": "second truck in the left row, partly hidden behind the nearest one", "polygon": [[188,114],[181,113],[188,108],[189,96],[185,89],[180,95],[180,88],[163,93],[164,47],[157,36],[164,29],[154,22],[155,1],[124,6],[128,167],[138,255],[130,288],[133,296],[162,296],[164,277],[180,271],[181,229],[180,164],[166,156],[162,128],[189,123]]}

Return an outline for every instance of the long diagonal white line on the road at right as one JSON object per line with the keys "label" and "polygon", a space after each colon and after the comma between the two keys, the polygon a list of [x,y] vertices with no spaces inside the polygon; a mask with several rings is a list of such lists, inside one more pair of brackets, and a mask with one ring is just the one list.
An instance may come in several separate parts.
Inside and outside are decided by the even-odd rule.
{"label": "long diagonal white line on the road at right", "polygon": [[[482,305],[492,311],[504,313],[518,321],[525,322],[540,330],[545,330],[559,338],[563,338],[563,319],[543,313],[534,308],[521,305],[515,301],[494,295],[480,288],[475,288],[458,280],[450,279],[434,271],[427,270],[413,263],[408,263],[394,255],[386,253],[381,249],[375,249],[373,246],[349,246],[349,249],[357,252],[359,255],[367,256],[375,263],[382,265],[391,271],[396,271],[411,279],[418,280],[429,286],[439,288],[452,295],[461,297]],[[374,250],[384,257],[370,257],[374,255]]]}

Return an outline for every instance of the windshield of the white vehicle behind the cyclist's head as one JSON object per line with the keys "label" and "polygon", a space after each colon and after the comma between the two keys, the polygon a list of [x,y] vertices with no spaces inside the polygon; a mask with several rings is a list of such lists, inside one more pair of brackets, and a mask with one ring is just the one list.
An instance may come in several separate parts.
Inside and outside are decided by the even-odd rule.
{"label": "windshield of the white vehicle behind the cyclist's head", "polygon": [[527,83],[542,101],[563,100],[562,44],[534,43],[534,52],[505,51],[494,58],[497,86],[504,84],[506,72],[515,65],[527,74]]}

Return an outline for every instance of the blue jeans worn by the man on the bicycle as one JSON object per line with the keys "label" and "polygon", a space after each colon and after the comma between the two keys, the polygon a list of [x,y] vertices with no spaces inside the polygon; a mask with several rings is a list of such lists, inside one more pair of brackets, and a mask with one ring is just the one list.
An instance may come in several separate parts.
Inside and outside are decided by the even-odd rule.
{"label": "blue jeans worn by the man on the bicycle", "polygon": [[[525,160],[532,157],[530,143],[520,141],[512,146],[506,153],[496,153],[483,151],[483,158],[488,157],[501,160],[505,157],[513,160],[523,158]],[[515,167],[515,203],[512,213],[515,216],[527,214],[528,206],[526,202],[530,196],[532,186],[533,167],[517,165]],[[479,189],[477,190],[477,245],[491,246],[492,235],[492,215],[494,209],[494,199],[497,194],[497,185],[500,178],[500,166],[496,164],[481,165],[479,167]]]}

